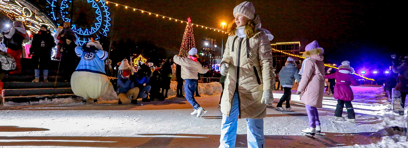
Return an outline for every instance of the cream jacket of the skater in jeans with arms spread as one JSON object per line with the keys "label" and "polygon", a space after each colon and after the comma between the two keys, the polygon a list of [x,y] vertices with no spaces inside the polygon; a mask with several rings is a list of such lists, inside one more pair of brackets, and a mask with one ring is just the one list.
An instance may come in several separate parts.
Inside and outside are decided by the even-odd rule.
{"label": "cream jacket of the skater in jeans with arms spread", "polygon": [[208,69],[201,66],[200,62],[194,62],[191,58],[174,55],[173,60],[181,65],[181,78],[198,79],[197,73],[207,73]]}

